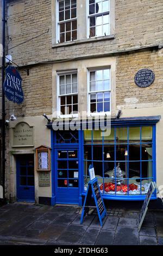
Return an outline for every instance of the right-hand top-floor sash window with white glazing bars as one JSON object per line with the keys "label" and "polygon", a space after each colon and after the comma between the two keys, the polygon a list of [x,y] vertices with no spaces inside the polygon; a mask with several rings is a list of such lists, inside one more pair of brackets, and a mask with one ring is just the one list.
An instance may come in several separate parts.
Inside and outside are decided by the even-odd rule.
{"label": "right-hand top-floor sash window with white glazing bars", "polygon": [[88,0],[89,1],[89,32],[92,38],[110,34],[110,1],[109,0]]}

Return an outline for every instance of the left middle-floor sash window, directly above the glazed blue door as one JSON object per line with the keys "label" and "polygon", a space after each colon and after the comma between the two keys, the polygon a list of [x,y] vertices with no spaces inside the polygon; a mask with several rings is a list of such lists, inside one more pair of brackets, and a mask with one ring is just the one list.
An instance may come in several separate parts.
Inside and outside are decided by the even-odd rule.
{"label": "left middle-floor sash window, directly above the glazed blue door", "polygon": [[78,83],[75,71],[58,76],[58,111],[61,115],[77,115]]}

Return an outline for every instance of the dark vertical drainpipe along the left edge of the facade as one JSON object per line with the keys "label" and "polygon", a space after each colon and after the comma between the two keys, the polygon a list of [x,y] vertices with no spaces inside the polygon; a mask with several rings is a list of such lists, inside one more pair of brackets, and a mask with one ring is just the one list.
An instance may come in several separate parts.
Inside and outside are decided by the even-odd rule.
{"label": "dark vertical drainpipe along the left edge of the facade", "polygon": [[[2,47],[5,48],[5,0],[2,1]],[[2,173],[1,185],[3,187],[3,200],[5,198],[5,95],[3,83],[5,77],[5,51],[2,56]]]}

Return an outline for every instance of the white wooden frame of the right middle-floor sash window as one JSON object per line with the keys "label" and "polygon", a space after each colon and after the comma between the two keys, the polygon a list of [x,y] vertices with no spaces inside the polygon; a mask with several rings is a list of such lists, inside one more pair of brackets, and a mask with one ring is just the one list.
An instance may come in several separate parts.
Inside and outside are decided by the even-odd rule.
{"label": "white wooden frame of the right middle-floor sash window", "polygon": [[[110,89],[109,90],[103,90],[103,91],[96,91],[96,92],[90,92],[90,72],[91,71],[97,71],[97,70],[104,70],[109,69],[109,77],[110,77]],[[103,111],[103,112],[91,112],[91,102],[90,102],[90,95],[91,93],[101,93],[101,92],[110,92],[110,111]],[[111,114],[111,66],[101,66],[98,68],[89,68],[87,69],[87,116],[88,117],[97,117],[99,115],[110,115]]]}

